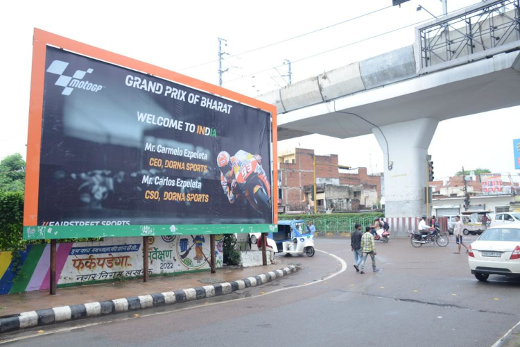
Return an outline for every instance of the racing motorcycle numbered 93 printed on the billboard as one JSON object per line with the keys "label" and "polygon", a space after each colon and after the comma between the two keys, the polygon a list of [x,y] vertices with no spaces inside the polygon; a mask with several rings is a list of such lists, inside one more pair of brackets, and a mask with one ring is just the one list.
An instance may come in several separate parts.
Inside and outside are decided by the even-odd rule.
{"label": "racing motorcycle numbered 93 printed on the billboard", "polygon": [[263,217],[271,214],[270,187],[262,166],[253,158],[241,165],[236,174],[236,187],[250,205]]}

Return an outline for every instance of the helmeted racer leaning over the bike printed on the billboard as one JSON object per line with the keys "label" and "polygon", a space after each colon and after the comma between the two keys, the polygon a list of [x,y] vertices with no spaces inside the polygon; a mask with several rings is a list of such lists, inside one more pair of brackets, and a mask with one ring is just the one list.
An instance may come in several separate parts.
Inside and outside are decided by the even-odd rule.
{"label": "helmeted racer leaning over the bike printed on the billboard", "polygon": [[[250,162],[251,160],[257,160],[261,164],[261,156],[258,154],[251,154],[246,151],[240,150],[235,153],[233,157],[226,151],[221,151],[217,155],[218,169],[220,169],[220,185],[227,196],[229,203],[234,203],[237,196],[240,195],[236,192],[236,175],[239,173],[243,164]],[[266,185],[267,194],[270,197],[271,189],[267,179],[265,171],[261,165],[257,167],[257,175],[262,180],[263,184]]]}

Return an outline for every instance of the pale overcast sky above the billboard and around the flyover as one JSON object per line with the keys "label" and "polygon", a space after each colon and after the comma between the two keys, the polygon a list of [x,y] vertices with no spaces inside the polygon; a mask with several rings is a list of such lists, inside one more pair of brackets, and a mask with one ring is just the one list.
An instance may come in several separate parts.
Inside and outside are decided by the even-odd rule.
{"label": "pale overcast sky above the billboard and around the flyover", "polygon": [[[476,0],[449,0],[456,10]],[[392,0],[373,1],[2,1],[0,159],[26,152],[33,28],[41,28],[218,83],[217,37],[227,40],[223,75],[230,90],[256,96],[286,85],[284,59],[292,64],[293,82],[351,62],[413,44],[414,26],[365,40],[401,26],[442,15],[440,0],[411,0],[345,24],[295,40],[297,35],[390,6]],[[354,44],[354,42],[362,41]],[[262,46],[274,44],[265,49]],[[344,48],[336,49],[345,46]],[[329,53],[324,51],[333,50]],[[250,53],[236,54],[254,50]],[[307,58],[314,56],[313,58]],[[205,65],[200,65],[209,62]],[[193,65],[200,65],[192,67]],[[189,68],[192,67],[192,68]],[[273,69],[277,67],[277,69]],[[520,95],[520,92],[519,92]],[[520,96],[519,96],[520,97]],[[520,108],[508,108],[443,121],[429,153],[435,178],[476,167],[494,172],[514,170],[512,139],[520,138]],[[373,135],[334,139],[309,135],[280,142],[280,149],[300,146],[319,154],[337,153],[341,164],[383,171],[383,155]]]}

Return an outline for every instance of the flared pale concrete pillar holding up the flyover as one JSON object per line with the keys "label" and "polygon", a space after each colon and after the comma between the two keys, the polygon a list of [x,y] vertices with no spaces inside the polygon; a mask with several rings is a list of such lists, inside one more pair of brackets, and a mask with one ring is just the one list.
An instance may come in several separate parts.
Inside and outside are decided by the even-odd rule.
{"label": "flared pale concrete pillar holding up the flyover", "polygon": [[[426,155],[437,124],[439,121],[435,119],[420,118],[381,126],[381,130],[372,128],[384,154],[386,217],[426,214]],[[401,223],[393,235],[405,236],[408,228]]]}

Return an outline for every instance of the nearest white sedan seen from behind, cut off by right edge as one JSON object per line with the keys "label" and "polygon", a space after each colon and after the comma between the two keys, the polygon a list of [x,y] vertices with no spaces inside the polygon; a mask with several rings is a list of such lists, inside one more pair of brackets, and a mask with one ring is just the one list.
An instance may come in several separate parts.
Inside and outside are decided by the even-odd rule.
{"label": "nearest white sedan seen from behind, cut off by right edge", "polygon": [[492,226],[469,246],[468,263],[477,280],[520,276],[520,223]]}

